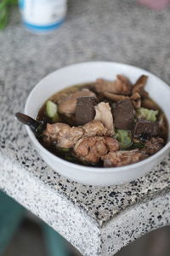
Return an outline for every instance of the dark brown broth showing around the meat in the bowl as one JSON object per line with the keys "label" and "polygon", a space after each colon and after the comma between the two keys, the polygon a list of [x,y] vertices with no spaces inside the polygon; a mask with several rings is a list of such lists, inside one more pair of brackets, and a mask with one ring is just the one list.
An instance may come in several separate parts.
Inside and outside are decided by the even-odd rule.
{"label": "dark brown broth showing around the meat in the bowl", "polygon": [[[82,88],[88,88],[90,90],[93,90],[93,84],[94,83],[73,85],[71,87],[65,88],[64,90],[60,90],[59,92],[55,93],[53,96],[49,97],[48,100],[51,100],[52,102],[55,102],[55,103],[59,103],[59,101],[62,100],[63,98],[65,98],[65,96],[68,96],[68,95],[70,95],[71,93],[73,93],[77,90],[82,90]],[[110,105],[112,103],[114,103],[113,101],[108,100],[107,98],[105,98],[103,96],[100,96],[97,93],[96,93],[96,95],[99,97],[100,102],[101,101],[102,102],[109,102]],[[37,114],[37,120],[38,121],[43,121],[45,123],[53,124],[54,123],[53,120],[48,118],[46,110],[45,110],[46,102],[44,102],[44,104],[42,105],[42,108],[40,108],[40,110]],[[156,102],[154,102],[150,97],[147,97],[147,98],[144,98],[142,100],[142,107],[153,109],[153,110],[159,110],[159,114],[158,114],[157,117],[158,117],[158,119],[160,119],[160,117],[162,117],[164,127],[165,127],[165,129],[160,132],[159,137],[162,137],[164,139],[164,142],[167,143],[167,131],[168,131],[167,118],[166,118],[165,114],[163,113],[162,109],[160,108],[160,106],[158,106],[156,104]],[[57,119],[57,122],[66,123],[68,125],[76,126],[74,116],[67,117],[67,116],[65,116],[64,114],[61,114],[61,113],[59,113],[59,119]],[[65,151],[59,150],[59,148],[56,148],[55,143],[45,143],[43,141],[42,137],[37,137],[37,139],[42,144],[42,146],[44,148],[47,148],[48,151],[57,155],[61,159],[68,160],[68,161],[71,161],[73,163],[76,163],[76,164],[79,164],[79,165],[82,165],[82,166],[85,165],[85,166],[102,167],[102,162],[101,161],[97,165],[92,165],[92,164],[89,164],[89,163],[86,163],[86,162],[82,162],[81,160],[77,159],[77,157],[73,154],[71,149],[69,149],[68,151],[65,152]],[[131,148],[129,148],[129,149],[131,149]]]}

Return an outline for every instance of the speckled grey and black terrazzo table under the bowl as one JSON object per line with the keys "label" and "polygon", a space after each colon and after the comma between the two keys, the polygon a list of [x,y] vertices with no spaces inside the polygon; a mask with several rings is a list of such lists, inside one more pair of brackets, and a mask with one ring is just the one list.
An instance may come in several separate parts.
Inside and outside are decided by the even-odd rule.
{"label": "speckled grey and black terrazzo table under the bowl", "polygon": [[114,255],[170,222],[170,160],[122,186],[94,188],[60,177],[14,120],[31,88],[48,73],[79,61],[121,61],[170,79],[170,9],[132,0],[71,0],[65,24],[33,35],[14,10],[0,32],[0,188],[50,224],[85,256]]}

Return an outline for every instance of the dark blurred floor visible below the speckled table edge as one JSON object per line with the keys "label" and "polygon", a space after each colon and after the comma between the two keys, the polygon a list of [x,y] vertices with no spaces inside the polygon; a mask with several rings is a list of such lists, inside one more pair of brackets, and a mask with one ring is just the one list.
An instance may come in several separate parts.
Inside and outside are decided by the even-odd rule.
{"label": "dark blurred floor visible below the speckled table edge", "polygon": [[[73,247],[69,247],[71,256],[81,256]],[[26,218],[3,256],[48,256],[38,222]],[[170,256],[170,227],[143,236],[124,247],[116,256]]]}

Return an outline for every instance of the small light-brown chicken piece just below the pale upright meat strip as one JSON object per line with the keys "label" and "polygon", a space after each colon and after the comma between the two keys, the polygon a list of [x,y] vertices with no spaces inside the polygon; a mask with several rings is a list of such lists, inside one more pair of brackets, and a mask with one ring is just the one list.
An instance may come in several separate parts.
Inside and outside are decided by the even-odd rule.
{"label": "small light-brown chicken piece just below the pale upright meat strip", "polygon": [[104,136],[107,133],[107,128],[98,120],[93,120],[82,126],[84,136]]}

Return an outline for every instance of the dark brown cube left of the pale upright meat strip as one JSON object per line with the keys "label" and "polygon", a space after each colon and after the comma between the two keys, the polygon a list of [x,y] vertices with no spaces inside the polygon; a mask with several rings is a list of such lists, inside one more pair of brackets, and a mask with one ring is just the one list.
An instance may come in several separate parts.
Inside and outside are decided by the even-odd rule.
{"label": "dark brown cube left of the pale upright meat strip", "polygon": [[94,119],[95,109],[99,103],[98,98],[94,96],[82,96],[77,98],[76,121],[77,125],[85,125]]}

